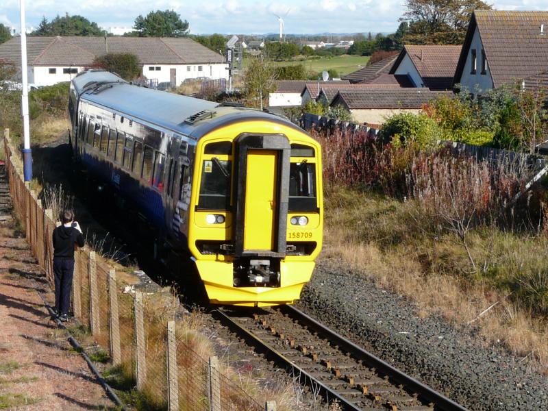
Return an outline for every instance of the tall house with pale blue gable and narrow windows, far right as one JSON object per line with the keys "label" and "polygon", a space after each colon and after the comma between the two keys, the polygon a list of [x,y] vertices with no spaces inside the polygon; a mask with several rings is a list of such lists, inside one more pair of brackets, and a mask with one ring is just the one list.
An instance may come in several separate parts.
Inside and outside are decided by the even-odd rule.
{"label": "tall house with pale blue gable and narrow windows, far right", "polygon": [[547,70],[548,12],[476,10],[453,84],[482,92]]}

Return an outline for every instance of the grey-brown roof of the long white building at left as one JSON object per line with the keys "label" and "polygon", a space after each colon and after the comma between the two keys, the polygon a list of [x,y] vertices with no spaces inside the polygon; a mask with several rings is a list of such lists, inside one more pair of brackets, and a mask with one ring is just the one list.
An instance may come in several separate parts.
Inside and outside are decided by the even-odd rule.
{"label": "grey-brown roof of the long white building at left", "polygon": [[[86,66],[100,55],[133,53],[142,64],[222,63],[223,56],[190,38],[27,36],[27,63],[32,66]],[[0,45],[0,60],[21,64],[21,41]]]}

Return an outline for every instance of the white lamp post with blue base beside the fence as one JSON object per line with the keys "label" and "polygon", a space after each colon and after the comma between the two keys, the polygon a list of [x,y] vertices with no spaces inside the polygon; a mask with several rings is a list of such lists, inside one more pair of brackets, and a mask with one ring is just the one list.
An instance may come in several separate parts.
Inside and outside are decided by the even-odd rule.
{"label": "white lamp post with blue base beside the fence", "polygon": [[25,27],[25,0],[19,0],[21,6],[21,77],[23,95],[21,97],[21,114],[23,115],[23,175],[25,182],[32,180],[32,155],[30,150],[29,125],[29,81],[27,72],[27,32]]}

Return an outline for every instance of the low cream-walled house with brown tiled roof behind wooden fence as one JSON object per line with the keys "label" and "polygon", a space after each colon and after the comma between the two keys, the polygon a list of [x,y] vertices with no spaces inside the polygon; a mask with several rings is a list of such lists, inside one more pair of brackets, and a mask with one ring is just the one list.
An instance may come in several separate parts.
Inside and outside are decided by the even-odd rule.
{"label": "low cream-walled house with brown tiled roof behind wooden fence", "polygon": [[429,88],[370,88],[367,90],[340,90],[330,107],[341,105],[352,113],[359,123],[382,124],[394,114],[419,113],[423,105],[450,91],[432,91]]}

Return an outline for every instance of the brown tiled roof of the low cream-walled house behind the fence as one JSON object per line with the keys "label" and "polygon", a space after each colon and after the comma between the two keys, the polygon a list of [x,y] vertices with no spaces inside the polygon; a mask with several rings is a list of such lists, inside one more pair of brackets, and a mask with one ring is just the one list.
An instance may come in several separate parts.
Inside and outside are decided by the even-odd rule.
{"label": "brown tiled roof of the low cream-walled house behind the fence", "polygon": [[332,101],[332,105],[343,104],[350,110],[419,109],[428,101],[442,95],[453,96],[453,92],[432,91],[428,88],[340,90],[338,96]]}

